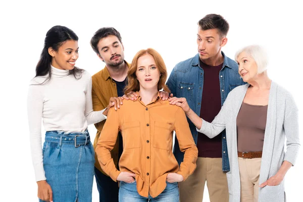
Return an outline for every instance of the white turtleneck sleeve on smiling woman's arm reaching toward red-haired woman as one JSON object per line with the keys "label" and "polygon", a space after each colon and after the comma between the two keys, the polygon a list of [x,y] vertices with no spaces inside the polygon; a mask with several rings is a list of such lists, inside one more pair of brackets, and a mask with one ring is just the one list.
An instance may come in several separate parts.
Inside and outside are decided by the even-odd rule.
{"label": "white turtleneck sleeve on smiling woman's arm reaching toward red-haired woman", "polygon": [[91,96],[91,77],[89,76],[89,81],[87,85],[87,91],[85,94],[86,103],[85,103],[85,117],[87,120],[87,125],[94,124],[105,120],[107,117],[103,114],[106,109],[101,111],[93,111],[92,109],[92,96]]}

